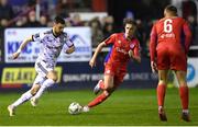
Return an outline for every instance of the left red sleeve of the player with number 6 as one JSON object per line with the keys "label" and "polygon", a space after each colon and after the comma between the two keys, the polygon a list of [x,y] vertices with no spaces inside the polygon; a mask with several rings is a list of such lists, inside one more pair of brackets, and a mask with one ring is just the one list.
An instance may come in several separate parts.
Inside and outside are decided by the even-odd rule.
{"label": "left red sleeve of the player with number 6", "polygon": [[150,35],[150,57],[151,61],[155,60],[156,57],[156,44],[157,44],[157,33],[156,33],[156,24],[153,25],[151,35]]}

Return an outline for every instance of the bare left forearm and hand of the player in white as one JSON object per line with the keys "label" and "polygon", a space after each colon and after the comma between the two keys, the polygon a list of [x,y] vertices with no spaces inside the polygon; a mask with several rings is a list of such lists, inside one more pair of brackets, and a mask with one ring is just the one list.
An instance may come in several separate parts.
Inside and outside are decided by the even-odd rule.
{"label": "bare left forearm and hand of the player in white", "polygon": [[23,41],[23,43],[20,45],[20,47],[18,48],[18,50],[12,54],[12,58],[13,58],[13,59],[16,59],[16,58],[20,56],[20,54],[21,54],[21,51],[23,50],[23,48],[26,46],[26,44],[30,43],[30,42],[32,42],[32,41],[33,41],[33,39],[32,39],[32,36],[25,38],[25,39]]}

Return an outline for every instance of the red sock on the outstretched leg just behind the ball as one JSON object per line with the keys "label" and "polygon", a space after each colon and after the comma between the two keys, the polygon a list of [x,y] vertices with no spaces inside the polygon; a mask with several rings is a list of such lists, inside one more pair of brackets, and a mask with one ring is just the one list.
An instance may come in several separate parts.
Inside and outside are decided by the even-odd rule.
{"label": "red sock on the outstretched leg just behind the ball", "polygon": [[100,95],[98,95],[94,101],[91,101],[88,104],[88,107],[92,107],[92,106],[96,106],[96,105],[102,103],[107,97],[108,97],[108,95],[106,95],[105,93],[101,93]]}

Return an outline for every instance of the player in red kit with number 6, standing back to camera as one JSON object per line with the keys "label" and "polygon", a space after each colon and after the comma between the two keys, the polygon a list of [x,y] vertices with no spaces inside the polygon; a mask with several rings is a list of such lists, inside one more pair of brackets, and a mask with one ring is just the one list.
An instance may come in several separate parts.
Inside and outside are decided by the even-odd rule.
{"label": "player in red kit with number 6, standing back to camera", "polygon": [[157,21],[151,32],[150,54],[152,71],[158,71],[157,102],[158,115],[167,120],[164,100],[168,70],[176,73],[179,83],[179,95],[183,106],[182,119],[189,122],[188,85],[186,82],[187,54],[191,42],[191,32],[187,22],[177,16],[177,9],[167,5],[164,18]]}

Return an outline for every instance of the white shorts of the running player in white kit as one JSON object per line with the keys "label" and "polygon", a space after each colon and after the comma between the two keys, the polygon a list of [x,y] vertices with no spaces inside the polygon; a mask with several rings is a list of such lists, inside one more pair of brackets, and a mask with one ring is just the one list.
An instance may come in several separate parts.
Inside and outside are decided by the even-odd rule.
{"label": "white shorts of the running player in white kit", "polygon": [[48,71],[54,70],[54,66],[52,66],[51,64],[47,64],[44,60],[36,60],[35,70],[36,70],[37,74],[40,74],[42,77],[46,77]]}

